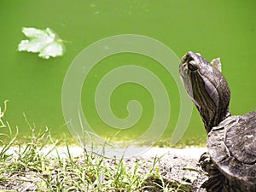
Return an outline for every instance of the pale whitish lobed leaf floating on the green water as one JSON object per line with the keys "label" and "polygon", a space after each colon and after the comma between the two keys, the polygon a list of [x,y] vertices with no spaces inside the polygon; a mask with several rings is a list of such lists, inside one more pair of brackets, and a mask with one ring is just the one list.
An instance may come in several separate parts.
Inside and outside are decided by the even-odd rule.
{"label": "pale whitish lobed leaf floating on the green water", "polygon": [[63,55],[65,46],[59,36],[51,29],[40,30],[32,27],[23,27],[22,32],[26,40],[22,40],[18,46],[19,51],[39,53],[39,57],[49,59]]}

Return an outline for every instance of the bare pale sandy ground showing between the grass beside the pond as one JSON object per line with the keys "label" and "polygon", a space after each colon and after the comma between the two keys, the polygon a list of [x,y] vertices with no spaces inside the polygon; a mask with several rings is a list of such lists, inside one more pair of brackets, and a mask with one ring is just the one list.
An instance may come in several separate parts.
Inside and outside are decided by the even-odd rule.
{"label": "bare pale sandy ground showing between the grass beside the pond", "polygon": [[[102,154],[102,150],[103,148],[96,148],[93,151],[95,153]],[[15,156],[18,154],[18,151],[19,148],[9,148],[7,154],[13,154],[13,156]],[[104,153],[102,155],[108,158],[104,158],[102,163],[104,166],[116,166],[116,163],[119,162],[117,159],[119,157],[124,157],[122,159],[125,165],[124,167],[126,167],[127,170],[130,170],[134,165],[137,165],[137,173],[142,176],[147,175],[148,171],[154,165],[154,174],[161,175],[164,179],[161,182],[164,182],[165,185],[172,184],[172,181],[176,181],[188,186],[191,191],[198,191],[197,187],[201,185],[195,183],[197,183],[197,181],[201,181],[202,177],[205,177],[204,173],[201,172],[198,160],[201,157],[201,154],[206,151],[207,148],[104,148]],[[67,147],[48,146],[40,150],[39,153],[47,154],[50,158],[55,158],[59,155],[61,158],[67,159],[67,162],[70,154],[73,157],[80,157],[76,158],[76,160],[79,160],[78,162],[80,165],[84,165],[84,149],[81,147],[71,146],[68,147],[67,150]],[[155,159],[155,157],[159,158]],[[31,177],[30,174],[32,173],[32,171],[28,171],[23,172],[22,175],[27,174],[28,177]],[[52,172],[51,175],[52,174],[54,175],[55,172]],[[16,174],[15,177],[13,177],[13,180],[10,179],[9,182],[4,183],[3,189],[5,189],[5,186],[20,188],[20,185],[24,185],[24,189],[27,189],[29,186],[27,186],[26,183],[20,183],[21,176]],[[22,179],[24,179],[23,176]],[[35,179],[40,181],[40,177],[36,177]],[[147,178],[148,182],[151,184],[155,182],[154,179],[154,177]],[[34,188],[31,187],[31,189]],[[155,189],[153,191],[160,190]],[[200,191],[205,192],[205,190]]]}

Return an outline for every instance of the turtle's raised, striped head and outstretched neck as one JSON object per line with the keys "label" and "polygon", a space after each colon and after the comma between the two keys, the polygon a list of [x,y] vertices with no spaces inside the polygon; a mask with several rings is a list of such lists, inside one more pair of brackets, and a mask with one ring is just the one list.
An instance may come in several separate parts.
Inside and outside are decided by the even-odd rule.
{"label": "turtle's raised, striped head and outstretched neck", "polygon": [[189,51],[182,58],[179,73],[207,133],[230,116],[230,88],[221,73],[219,58],[210,63],[200,54]]}

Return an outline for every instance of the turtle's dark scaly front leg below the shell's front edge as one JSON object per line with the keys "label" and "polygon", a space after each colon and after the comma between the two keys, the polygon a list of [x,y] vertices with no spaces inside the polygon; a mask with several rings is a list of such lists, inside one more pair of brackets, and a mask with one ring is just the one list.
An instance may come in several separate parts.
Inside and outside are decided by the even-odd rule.
{"label": "turtle's dark scaly front leg below the shell's front edge", "polygon": [[202,154],[199,163],[202,170],[208,173],[208,180],[202,184],[202,187],[208,192],[223,192],[225,177],[212,162],[210,154],[207,152]]}

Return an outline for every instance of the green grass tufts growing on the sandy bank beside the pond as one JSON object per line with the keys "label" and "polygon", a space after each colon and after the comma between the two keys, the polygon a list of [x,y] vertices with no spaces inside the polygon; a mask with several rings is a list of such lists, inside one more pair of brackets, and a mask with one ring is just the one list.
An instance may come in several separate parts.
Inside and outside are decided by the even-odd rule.
{"label": "green grass tufts growing on the sandy bank beside the pond", "polygon": [[14,133],[6,123],[9,134],[1,140],[0,191],[189,191],[188,186],[161,176],[160,158],[108,159],[86,148],[74,157],[67,141],[63,155],[47,128],[36,132],[28,125],[31,134],[20,143],[18,128]]}

